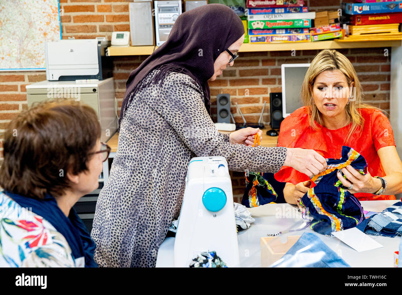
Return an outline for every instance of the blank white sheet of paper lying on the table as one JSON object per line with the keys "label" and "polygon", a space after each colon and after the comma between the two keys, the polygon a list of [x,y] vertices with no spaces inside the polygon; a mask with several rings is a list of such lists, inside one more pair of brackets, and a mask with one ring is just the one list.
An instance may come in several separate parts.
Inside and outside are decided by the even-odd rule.
{"label": "blank white sheet of paper lying on the table", "polygon": [[332,234],[358,252],[384,247],[357,228],[349,228]]}

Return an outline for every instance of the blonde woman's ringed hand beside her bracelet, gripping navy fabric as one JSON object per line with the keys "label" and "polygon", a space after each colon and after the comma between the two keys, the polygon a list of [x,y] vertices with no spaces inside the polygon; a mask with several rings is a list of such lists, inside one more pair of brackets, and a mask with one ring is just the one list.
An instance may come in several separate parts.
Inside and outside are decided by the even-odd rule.
{"label": "blonde woman's ringed hand beside her bracelet, gripping navy fabric", "polygon": [[350,187],[353,184],[351,189],[347,189],[350,193],[375,193],[378,191],[381,186],[381,180],[378,178],[372,177],[369,172],[366,175],[359,173],[356,169],[354,169],[351,165],[348,165],[345,168],[340,169],[343,174],[346,176],[345,179],[342,176],[342,173],[338,170],[336,176],[342,183],[344,187]]}

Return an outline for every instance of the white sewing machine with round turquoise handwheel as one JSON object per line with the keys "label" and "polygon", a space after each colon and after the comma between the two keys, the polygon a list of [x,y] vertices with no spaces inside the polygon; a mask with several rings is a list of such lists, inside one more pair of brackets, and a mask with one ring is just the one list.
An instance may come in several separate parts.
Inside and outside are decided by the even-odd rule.
{"label": "white sewing machine with round turquoise handwheel", "polygon": [[176,237],[162,243],[156,267],[189,267],[206,251],[216,251],[228,267],[240,266],[232,182],[224,157],[191,159]]}

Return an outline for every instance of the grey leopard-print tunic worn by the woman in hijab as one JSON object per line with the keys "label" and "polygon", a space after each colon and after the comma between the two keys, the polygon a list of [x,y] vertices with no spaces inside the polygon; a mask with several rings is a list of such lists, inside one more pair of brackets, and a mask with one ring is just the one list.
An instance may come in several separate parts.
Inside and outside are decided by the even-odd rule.
{"label": "grey leopard-print tunic worn by the woman in hijab", "polygon": [[[150,72],[152,79],[156,71]],[[204,106],[201,87],[169,73],[133,96],[121,120],[117,153],[100,191],[92,239],[100,267],[154,267],[160,244],[183,201],[192,157],[223,156],[233,171],[277,172],[283,147],[230,144]]]}

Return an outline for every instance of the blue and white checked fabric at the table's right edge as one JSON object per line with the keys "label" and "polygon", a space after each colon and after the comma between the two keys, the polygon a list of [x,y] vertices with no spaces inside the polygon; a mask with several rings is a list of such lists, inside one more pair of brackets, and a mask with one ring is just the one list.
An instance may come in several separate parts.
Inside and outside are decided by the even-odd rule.
{"label": "blue and white checked fabric at the table's right edge", "polygon": [[396,202],[384,211],[371,215],[357,228],[372,236],[402,236],[402,202]]}

